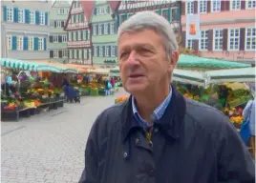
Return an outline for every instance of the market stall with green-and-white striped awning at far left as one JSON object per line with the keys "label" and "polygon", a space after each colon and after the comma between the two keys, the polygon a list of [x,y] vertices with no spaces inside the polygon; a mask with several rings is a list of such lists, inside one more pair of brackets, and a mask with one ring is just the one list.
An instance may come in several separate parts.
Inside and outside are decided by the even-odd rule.
{"label": "market stall with green-and-white striped awning at far left", "polygon": [[63,107],[61,91],[55,90],[47,78],[37,74],[39,71],[62,72],[62,68],[9,58],[0,58],[0,66],[6,71],[1,85],[2,120],[18,121],[20,116],[28,117],[45,108]]}

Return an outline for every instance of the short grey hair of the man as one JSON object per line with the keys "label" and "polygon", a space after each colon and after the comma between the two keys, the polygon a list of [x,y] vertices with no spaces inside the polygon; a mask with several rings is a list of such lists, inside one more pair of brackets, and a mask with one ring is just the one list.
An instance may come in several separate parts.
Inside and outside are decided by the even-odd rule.
{"label": "short grey hair of the man", "polygon": [[154,11],[139,11],[123,22],[117,31],[117,42],[122,33],[137,30],[155,30],[162,37],[168,57],[171,57],[172,51],[178,51],[176,35],[170,23]]}

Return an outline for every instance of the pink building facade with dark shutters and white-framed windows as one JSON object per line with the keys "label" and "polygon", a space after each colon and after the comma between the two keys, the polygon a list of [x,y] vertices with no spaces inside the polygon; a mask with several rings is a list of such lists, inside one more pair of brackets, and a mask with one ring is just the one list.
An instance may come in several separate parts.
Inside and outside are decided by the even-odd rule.
{"label": "pink building facade with dark shutters and white-framed windows", "polygon": [[[255,60],[253,0],[187,0],[182,2],[182,45],[202,56],[252,63]],[[186,16],[199,14],[200,38],[186,38]]]}

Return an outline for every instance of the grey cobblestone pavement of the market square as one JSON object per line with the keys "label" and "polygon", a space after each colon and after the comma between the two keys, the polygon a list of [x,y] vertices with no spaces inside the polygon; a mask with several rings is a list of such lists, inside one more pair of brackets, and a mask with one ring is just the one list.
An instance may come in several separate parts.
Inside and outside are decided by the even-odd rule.
{"label": "grey cobblestone pavement of the market square", "polygon": [[2,183],[78,182],[87,136],[96,115],[114,104],[114,96],[85,96],[19,122],[1,122]]}

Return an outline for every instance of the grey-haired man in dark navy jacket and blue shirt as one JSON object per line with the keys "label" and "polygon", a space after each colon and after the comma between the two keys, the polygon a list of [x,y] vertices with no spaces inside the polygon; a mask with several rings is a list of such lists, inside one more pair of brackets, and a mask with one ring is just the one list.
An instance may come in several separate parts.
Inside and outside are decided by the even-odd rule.
{"label": "grey-haired man in dark navy jacket and blue shirt", "polygon": [[81,183],[254,182],[254,163],[223,113],[170,86],[179,59],[170,24],[142,11],[117,32],[130,98],[96,118]]}

